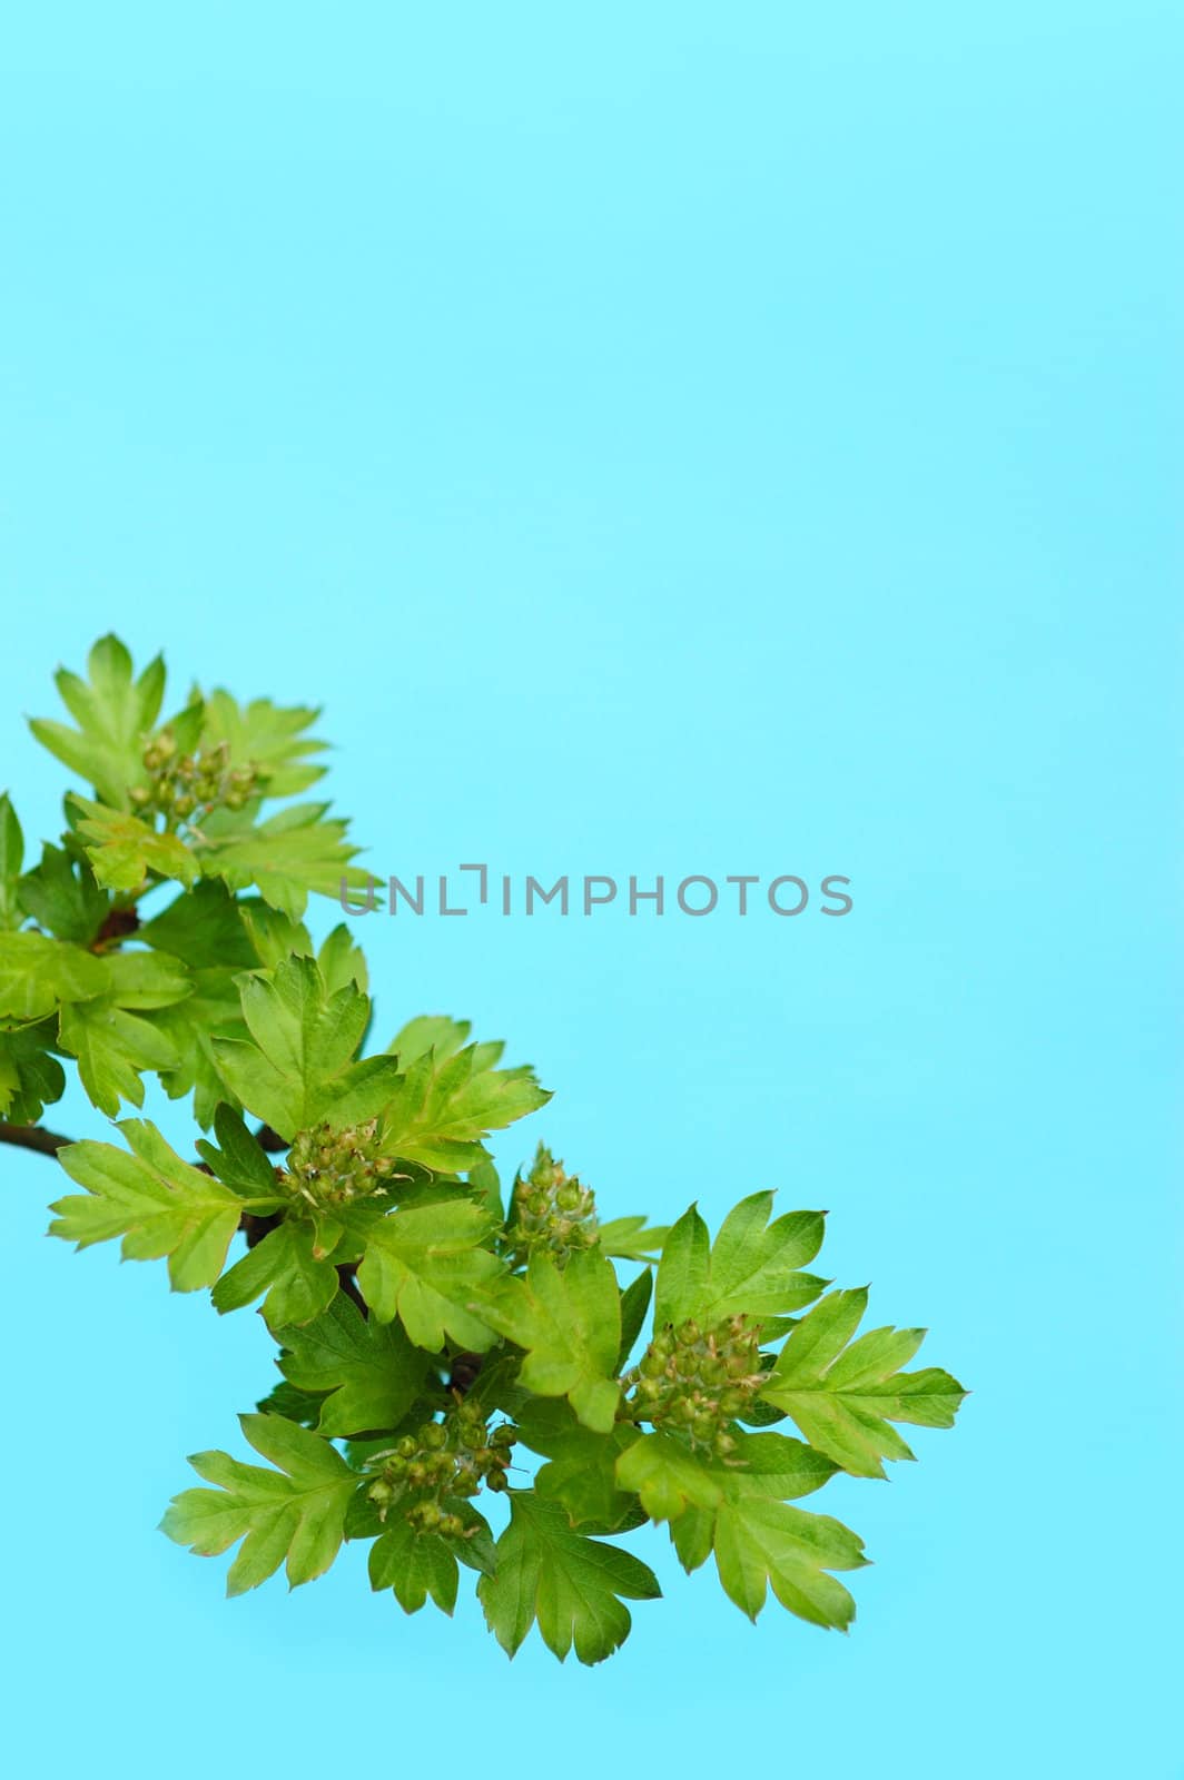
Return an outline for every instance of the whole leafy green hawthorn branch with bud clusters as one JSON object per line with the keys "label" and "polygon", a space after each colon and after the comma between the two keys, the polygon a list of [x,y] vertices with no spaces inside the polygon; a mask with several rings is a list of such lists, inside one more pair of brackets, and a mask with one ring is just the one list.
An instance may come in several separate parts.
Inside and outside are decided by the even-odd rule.
{"label": "whole leafy green hawthorn branch with bud clusters", "polygon": [[949,1428],[963,1392],[904,1371],[920,1330],[858,1335],[867,1292],[823,1296],[824,1214],[760,1191],[714,1242],[694,1205],[605,1221],[541,1145],[504,1196],[486,1139],[547,1104],[532,1070],[443,1015],[372,1047],[351,927],[303,924],[356,879],[345,824],[285,801],[322,773],[317,712],[192,689],[162,723],[164,662],[114,637],[57,685],[73,723],[32,728],[80,783],[30,869],[0,797],[0,1139],[68,1070],[107,1118],[150,1075],[189,1100],[192,1161],[132,1118],[61,1148],[52,1232],[260,1303],[280,1372],[242,1417],[267,1463],[198,1454],[169,1538],[239,1543],[231,1595],[345,1541],[406,1613],[450,1614],[470,1572],[509,1655],[538,1627],[598,1663],[659,1595],[605,1538],[657,1525],[750,1618],[771,1591],[846,1630],[862,1541],[798,1502],[912,1458],[897,1424]]}

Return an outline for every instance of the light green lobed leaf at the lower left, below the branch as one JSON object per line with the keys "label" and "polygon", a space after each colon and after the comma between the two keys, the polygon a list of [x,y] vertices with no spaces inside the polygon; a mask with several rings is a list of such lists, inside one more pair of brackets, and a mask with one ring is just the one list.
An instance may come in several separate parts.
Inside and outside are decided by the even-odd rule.
{"label": "light green lobed leaf at the lower left, below the branch", "polygon": [[292,1588],[324,1575],[345,1536],[345,1511],[358,1477],[322,1440],[280,1415],[242,1415],[255,1451],[278,1470],[244,1465],[226,1452],[196,1452],[189,1463],[214,1490],[183,1490],[160,1524],[178,1545],[201,1558],[242,1549],[230,1566],[226,1593],[258,1588],[287,1559]]}

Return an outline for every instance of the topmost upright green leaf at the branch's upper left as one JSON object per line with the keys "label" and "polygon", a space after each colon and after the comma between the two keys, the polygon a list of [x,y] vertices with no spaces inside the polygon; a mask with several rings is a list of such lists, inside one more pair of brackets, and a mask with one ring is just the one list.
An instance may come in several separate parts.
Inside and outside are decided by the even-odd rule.
{"label": "topmost upright green leaf at the branch's upper left", "polygon": [[160,716],[164,660],[157,655],[137,680],[123,643],[107,635],[91,650],[87,676],[80,680],[66,668],[55,675],[77,730],[46,717],[32,717],[28,726],[105,803],[126,808],[128,789],[144,781],[141,755],[144,737]]}

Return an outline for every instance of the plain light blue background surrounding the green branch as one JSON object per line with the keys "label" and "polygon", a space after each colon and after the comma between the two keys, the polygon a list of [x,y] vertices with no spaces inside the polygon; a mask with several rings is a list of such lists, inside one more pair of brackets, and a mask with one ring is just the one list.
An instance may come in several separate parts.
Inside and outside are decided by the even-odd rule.
{"label": "plain light blue background surrounding the green branch", "polygon": [[1179,1773],[1179,12],[5,37],[28,831],[64,776],[14,707],[116,627],[324,701],[377,870],[847,872],[839,922],[372,920],[379,1027],[506,1036],[609,1212],[830,1207],[826,1273],[974,1387],[817,1499],[876,1559],[847,1639],[753,1630],[657,1536],[669,1600],[595,1671],[509,1668],[472,1602],[404,1620],[358,1552],[224,1604],[153,1525],[264,1330],[41,1241],[48,1164],[5,1152],[16,1771]]}

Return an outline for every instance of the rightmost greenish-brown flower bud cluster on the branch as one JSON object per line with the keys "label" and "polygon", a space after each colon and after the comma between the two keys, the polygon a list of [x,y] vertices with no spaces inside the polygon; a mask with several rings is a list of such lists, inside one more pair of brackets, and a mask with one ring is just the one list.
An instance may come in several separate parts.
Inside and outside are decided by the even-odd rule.
{"label": "rightmost greenish-brown flower bud cluster on the branch", "polygon": [[691,1445],[726,1460],[735,1451],[728,1422],[753,1401],[762,1380],[757,1324],[728,1317],[709,1330],[694,1321],[666,1326],[625,1385],[632,1415],[678,1429]]}

